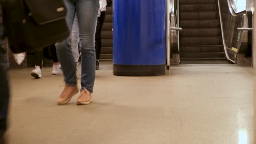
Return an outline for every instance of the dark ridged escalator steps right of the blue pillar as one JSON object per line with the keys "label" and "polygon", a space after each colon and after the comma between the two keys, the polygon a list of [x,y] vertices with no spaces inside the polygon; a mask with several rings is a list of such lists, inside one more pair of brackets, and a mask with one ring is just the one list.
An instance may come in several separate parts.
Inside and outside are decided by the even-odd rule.
{"label": "dark ridged escalator steps right of the blue pillar", "polygon": [[217,0],[179,1],[181,61],[223,61]]}

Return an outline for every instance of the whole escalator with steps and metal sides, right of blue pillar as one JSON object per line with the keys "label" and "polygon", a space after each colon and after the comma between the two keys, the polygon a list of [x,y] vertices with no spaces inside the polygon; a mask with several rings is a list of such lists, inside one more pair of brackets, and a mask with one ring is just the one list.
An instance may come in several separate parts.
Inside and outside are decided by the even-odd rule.
{"label": "whole escalator with steps and metal sides, right of blue pillar", "polygon": [[167,68],[187,62],[252,63],[252,10],[237,10],[234,0],[170,0],[168,5]]}

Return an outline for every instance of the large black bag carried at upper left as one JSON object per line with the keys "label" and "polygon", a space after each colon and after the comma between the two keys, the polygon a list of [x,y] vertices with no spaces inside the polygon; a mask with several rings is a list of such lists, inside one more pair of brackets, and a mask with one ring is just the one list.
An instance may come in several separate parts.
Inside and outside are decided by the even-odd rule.
{"label": "large black bag carried at upper left", "polygon": [[5,0],[4,31],[14,53],[40,51],[69,35],[62,0]]}

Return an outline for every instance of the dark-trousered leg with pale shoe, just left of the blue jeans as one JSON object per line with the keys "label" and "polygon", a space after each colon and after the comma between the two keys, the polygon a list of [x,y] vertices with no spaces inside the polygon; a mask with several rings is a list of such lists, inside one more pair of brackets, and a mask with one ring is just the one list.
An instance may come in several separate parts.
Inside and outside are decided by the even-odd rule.
{"label": "dark-trousered leg with pale shoe, just left of the blue jeans", "polygon": [[51,45],[51,57],[53,57],[53,71],[51,74],[58,75],[61,73],[59,59],[57,58],[56,46]]}

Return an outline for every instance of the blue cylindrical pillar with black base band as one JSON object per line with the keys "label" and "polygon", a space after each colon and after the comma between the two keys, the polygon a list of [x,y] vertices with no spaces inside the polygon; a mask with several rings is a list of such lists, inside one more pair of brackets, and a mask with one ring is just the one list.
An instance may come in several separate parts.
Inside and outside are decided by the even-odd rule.
{"label": "blue cylindrical pillar with black base band", "polygon": [[166,0],[114,0],[114,75],[165,75]]}

